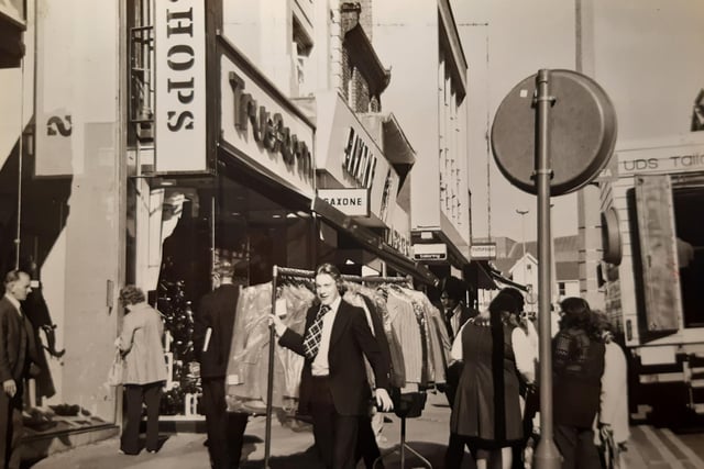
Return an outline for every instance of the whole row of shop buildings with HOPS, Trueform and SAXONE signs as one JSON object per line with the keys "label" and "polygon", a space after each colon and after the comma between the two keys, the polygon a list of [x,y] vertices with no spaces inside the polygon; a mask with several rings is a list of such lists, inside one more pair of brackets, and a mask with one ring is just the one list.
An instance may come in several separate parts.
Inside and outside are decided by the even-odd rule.
{"label": "whole row of shop buildings with HOPS, Trueform and SAXONE signs", "polygon": [[[466,66],[451,12],[433,4],[435,66],[414,110],[400,105],[408,104],[398,94],[408,86],[403,67],[392,72],[395,55],[382,56],[373,40],[377,3],[386,8],[336,0],[0,8],[0,102],[10,116],[0,123],[0,266],[34,280],[37,334],[56,355],[47,355],[32,405],[86,416],[94,432],[70,433],[70,444],[121,423],[119,388],[103,382],[127,283],[165,316],[161,414],[183,421],[200,418],[193,310],[219,261],[235,266],[242,286],[272,280],[273,266],[320,261],[410,276],[419,288],[450,265],[462,269]],[[392,92],[395,79],[402,85]],[[419,124],[427,105],[431,122]],[[428,139],[429,123],[438,131]],[[420,171],[436,175],[430,193],[424,177],[414,182]],[[428,211],[414,211],[433,198]],[[446,270],[413,257],[414,236],[448,246]],[[65,431],[57,420],[42,437]]]}

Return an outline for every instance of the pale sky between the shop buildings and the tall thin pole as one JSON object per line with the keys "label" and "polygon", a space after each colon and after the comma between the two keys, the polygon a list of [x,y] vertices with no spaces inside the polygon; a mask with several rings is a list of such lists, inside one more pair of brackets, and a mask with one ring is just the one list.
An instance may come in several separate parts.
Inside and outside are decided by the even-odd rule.
{"label": "pale sky between the shop buildings and the tall thin pole", "polygon": [[[537,197],[499,172],[487,127],[502,100],[541,68],[575,68],[574,2],[564,0],[451,0],[468,59],[472,237],[536,239]],[[490,190],[491,188],[491,190]],[[576,196],[551,199],[553,236],[578,233]],[[517,210],[528,211],[524,216]],[[522,221],[521,221],[522,219]]]}

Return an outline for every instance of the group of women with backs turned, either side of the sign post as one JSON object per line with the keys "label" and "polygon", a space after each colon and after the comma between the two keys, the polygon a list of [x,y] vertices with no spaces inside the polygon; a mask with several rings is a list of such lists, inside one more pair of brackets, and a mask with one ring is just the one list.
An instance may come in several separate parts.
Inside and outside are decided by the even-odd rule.
{"label": "group of women with backs turned, either side of the sign post", "polygon": [[[526,468],[539,427],[538,334],[522,294],[506,288],[487,311],[462,326],[452,358],[463,364],[452,405],[446,468],[459,468],[466,446],[476,467]],[[559,304],[552,337],[554,443],[563,469],[610,467],[629,437],[626,357],[612,327],[581,298]]]}

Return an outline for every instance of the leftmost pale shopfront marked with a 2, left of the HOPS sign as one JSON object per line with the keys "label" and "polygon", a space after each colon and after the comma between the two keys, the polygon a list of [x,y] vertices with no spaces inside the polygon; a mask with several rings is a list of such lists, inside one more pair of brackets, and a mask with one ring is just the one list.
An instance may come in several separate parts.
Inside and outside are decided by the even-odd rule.
{"label": "leftmost pale shopfront marked with a 2, left of the HOPS sign", "polygon": [[[31,273],[23,309],[47,347],[28,404],[64,404],[47,432],[75,442],[67,420],[105,436],[121,398],[103,383],[122,314],[127,44],[120,2],[53,7],[0,8],[0,267]],[[46,427],[29,425],[44,447]]]}

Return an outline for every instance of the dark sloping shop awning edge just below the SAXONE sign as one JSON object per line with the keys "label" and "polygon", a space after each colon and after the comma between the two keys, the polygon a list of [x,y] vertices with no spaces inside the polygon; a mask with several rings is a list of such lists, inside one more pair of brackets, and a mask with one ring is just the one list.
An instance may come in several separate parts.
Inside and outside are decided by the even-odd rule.
{"label": "dark sloping shop awning edge just below the SAXONE sign", "polygon": [[410,275],[415,279],[429,284],[437,284],[438,277],[426,266],[405,257],[398,250],[391,247],[376,233],[358,223],[353,217],[345,215],[324,200],[316,197],[311,202],[312,212],[321,216],[338,230],[352,236],[365,249],[377,255],[394,269]]}

